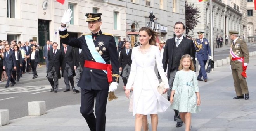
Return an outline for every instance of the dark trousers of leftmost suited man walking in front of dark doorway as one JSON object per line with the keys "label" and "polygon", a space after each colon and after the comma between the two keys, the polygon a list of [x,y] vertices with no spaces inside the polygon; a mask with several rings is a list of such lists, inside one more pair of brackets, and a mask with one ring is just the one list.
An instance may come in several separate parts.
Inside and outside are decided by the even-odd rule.
{"label": "dark trousers of leftmost suited man walking in front of dark doorway", "polygon": [[58,91],[59,77],[54,67],[47,73],[47,79],[54,88],[54,91]]}

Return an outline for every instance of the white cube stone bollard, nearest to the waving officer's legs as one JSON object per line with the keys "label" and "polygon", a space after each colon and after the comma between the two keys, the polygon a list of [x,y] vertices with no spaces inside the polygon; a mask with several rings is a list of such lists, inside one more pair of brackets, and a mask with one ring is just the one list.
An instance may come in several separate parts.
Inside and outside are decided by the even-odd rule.
{"label": "white cube stone bollard, nearest to the waving officer's legs", "polygon": [[40,116],[46,114],[45,101],[31,101],[28,102],[28,115]]}

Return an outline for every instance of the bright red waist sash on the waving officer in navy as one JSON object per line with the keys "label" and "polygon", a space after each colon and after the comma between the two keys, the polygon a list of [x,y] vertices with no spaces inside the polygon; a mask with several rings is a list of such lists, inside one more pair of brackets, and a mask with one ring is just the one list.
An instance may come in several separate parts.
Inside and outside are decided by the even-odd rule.
{"label": "bright red waist sash on the waving officer in navy", "polygon": [[104,63],[85,60],[84,67],[92,68],[92,69],[99,69],[99,70],[106,70],[107,71],[107,81],[109,83],[113,81],[111,64],[104,64]]}

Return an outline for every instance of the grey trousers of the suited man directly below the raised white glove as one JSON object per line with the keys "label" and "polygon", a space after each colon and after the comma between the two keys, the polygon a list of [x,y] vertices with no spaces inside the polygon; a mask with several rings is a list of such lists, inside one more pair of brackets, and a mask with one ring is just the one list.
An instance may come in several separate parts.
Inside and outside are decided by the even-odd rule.
{"label": "grey trousers of the suited man directly below the raised white glove", "polygon": [[74,77],[73,77],[73,71],[69,64],[66,63],[66,67],[63,72],[64,82],[66,85],[66,89],[69,89],[69,82],[71,84],[72,89],[74,89]]}

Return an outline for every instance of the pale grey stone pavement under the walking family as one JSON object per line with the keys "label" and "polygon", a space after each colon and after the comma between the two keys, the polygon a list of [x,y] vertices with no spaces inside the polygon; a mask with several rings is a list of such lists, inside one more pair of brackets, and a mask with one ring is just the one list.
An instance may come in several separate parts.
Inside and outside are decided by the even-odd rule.
{"label": "pale grey stone pavement under the walking family", "polygon": [[[256,56],[252,56],[246,71],[249,100],[233,99],[236,94],[229,64],[216,67],[214,72],[208,73],[208,82],[199,81],[201,112],[192,114],[192,131],[256,131],[255,66]],[[38,70],[38,72],[43,73],[38,76],[45,79],[43,78],[46,76],[45,68],[40,69],[42,71]],[[22,77],[21,81],[23,79],[25,80]],[[32,80],[32,76],[28,79]],[[130,100],[125,97],[121,84],[115,93],[118,99],[107,103],[106,131],[133,131],[135,117],[128,112]],[[164,113],[159,113],[157,130],[184,131],[184,124],[176,128],[173,115],[174,111],[170,108]],[[150,122],[149,115],[148,119]],[[80,113],[80,105],[68,105],[48,110],[47,114],[42,116],[26,116],[11,120],[10,124],[0,127],[0,131],[90,131],[90,129]]]}

